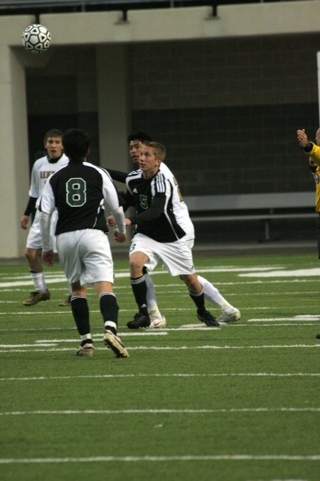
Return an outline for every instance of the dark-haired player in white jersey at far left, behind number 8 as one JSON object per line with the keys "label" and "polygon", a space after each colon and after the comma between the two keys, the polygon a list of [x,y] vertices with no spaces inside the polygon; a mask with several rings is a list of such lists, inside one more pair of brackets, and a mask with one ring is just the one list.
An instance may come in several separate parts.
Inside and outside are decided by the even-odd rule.
{"label": "dark-haired player in white jersey at far left, behind number 8", "polygon": [[[33,306],[40,301],[50,299],[50,291],[46,286],[46,279],[43,272],[43,264],[39,252],[41,251],[41,232],[39,222],[38,206],[46,180],[50,175],[61,167],[68,164],[69,159],[63,153],[63,133],[58,129],[51,129],[45,135],[44,147],[47,155],[34,162],[31,172],[31,185],[29,189],[29,200],[26,210],[20,219],[22,229],[28,228],[31,212],[36,208],[36,215],[28,233],[26,241],[25,256],[30,269],[35,291],[31,292],[28,299],[23,301],[24,306]],[[56,215],[51,224],[51,234],[54,238]],[[63,301],[65,302],[65,301]],[[65,305],[65,304],[64,304]]]}

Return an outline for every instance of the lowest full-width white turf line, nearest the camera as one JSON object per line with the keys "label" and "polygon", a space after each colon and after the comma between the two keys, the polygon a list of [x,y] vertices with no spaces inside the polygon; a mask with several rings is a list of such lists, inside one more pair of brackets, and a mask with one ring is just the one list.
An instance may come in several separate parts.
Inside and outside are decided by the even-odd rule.
{"label": "lowest full-width white turf line, nearest the camera", "polygon": [[[91,457],[9,457],[0,464],[60,462],[168,462],[168,461],[319,461],[316,455],[183,455],[183,456],[91,456]],[[289,481],[289,480],[288,480]],[[290,480],[294,481],[294,480]],[[297,480],[298,481],[298,480]]]}

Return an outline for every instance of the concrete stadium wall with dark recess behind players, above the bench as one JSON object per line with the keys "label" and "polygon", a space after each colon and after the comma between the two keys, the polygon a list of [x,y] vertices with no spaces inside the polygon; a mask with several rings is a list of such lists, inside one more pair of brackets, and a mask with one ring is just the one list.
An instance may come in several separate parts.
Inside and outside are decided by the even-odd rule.
{"label": "concrete stadium wall with dark recess behind players, above the bench", "polygon": [[90,130],[93,160],[124,170],[127,133],[149,130],[185,195],[314,188],[294,134],[319,124],[320,1],[211,12],[43,15],[53,43],[42,56],[20,44],[32,16],[0,17],[0,257],[23,252],[27,157],[53,122]]}

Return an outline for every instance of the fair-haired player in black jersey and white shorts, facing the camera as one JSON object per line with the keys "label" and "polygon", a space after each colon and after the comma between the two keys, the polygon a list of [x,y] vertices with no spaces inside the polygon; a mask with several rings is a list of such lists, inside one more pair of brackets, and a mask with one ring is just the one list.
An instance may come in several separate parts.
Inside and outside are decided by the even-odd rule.
{"label": "fair-haired player in black jersey and white shorts, facing the camera", "polygon": [[203,288],[193,267],[192,252],[184,239],[186,232],[175,216],[173,187],[159,170],[164,153],[162,144],[146,141],[139,155],[140,170],[127,176],[127,206],[134,206],[136,214],[130,215],[126,223],[137,225],[129,254],[130,277],[139,308],[139,313],[127,326],[138,329],[150,324],[143,267],[148,262],[156,265],[159,260],[171,276],[181,276],[185,282],[197,306],[198,319],[208,326],[219,326],[205,307]]}

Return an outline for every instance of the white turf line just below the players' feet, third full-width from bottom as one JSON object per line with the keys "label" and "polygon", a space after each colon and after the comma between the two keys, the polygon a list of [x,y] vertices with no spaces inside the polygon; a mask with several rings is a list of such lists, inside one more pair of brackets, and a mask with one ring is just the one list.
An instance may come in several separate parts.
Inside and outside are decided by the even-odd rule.
{"label": "white turf line just below the players' feet, third full-width from bottom", "polygon": [[39,376],[24,378],[0,378],[1,381],[62,381],[63,379],[87,379],[87,378],[228,378],[228,377],[274,377],[274,378],[291,378],[291,377],[320,377],[320,373],[176,373],[176,374],[88,374],[82,376]]}

